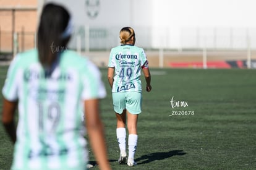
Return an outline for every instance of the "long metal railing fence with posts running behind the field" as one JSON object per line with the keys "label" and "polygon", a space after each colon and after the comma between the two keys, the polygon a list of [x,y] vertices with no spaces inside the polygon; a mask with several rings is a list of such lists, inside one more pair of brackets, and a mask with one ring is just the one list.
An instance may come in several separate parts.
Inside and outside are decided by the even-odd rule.
{"label": "long metal railing fence with posts running behind the field", "polygon": [[[109,51],[119,45],[119,27],[75,27],[69,48],[81,52]],[[160,67],[164,51],[202,51],[203,66],[207,51],[245,51],[250,68],[252,52],[256,49],[256,28],[169,28],[134,27],[136,45],[147,50],[159,50]],[[14,38],[12,41],[12,37]],[[35,32],[3,32],[0,30],[0,51],[13,54],[35,48]],[[12,45],[14,48],[12,48]],[[162,62],[161,62],[162,61]]]}

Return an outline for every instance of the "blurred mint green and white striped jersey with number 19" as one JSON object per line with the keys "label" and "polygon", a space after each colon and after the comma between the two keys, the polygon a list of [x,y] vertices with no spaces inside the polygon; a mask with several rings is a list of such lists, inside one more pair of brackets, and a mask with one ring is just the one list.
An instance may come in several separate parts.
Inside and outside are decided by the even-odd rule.
{"label": "blurred mint green and white striped jersey with number 19", "polygon": [[66,50],[45,78],[36,49],[18,54],[2,93],[9,101],[19,100],[12,169],[86,169],[83,101],[106,96],[92,62]]}

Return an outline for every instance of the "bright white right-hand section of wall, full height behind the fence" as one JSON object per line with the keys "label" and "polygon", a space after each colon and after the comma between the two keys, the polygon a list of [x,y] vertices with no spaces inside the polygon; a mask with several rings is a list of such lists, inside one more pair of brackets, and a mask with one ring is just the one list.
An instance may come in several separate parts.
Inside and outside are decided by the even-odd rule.
{"label": "bright white right-hand section of wall, full height behind the fence", "polygon": [[255,35],[255,5],[255,0],[152,0],[153,46],[245,48],[247,35]]}

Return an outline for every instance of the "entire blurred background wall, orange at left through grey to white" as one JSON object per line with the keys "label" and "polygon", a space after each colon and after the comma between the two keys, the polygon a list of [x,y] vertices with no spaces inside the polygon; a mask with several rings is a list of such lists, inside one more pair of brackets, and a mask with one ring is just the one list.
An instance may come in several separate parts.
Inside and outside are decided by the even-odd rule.
{"label": "entire blurred background wall, orange at left through grey to white", "polygon": [[[35,45],[38,15],[46,2],[51,0],[0,1],[0,51],[13,50],[14,32],[18,51]],[[70,48],[74,49],[109,50],[119,45],[119,30],[128,25],[137,33],[137,45],[147,49],[256,49],[253,0],[54,2],[66,6],[73,15]]]}

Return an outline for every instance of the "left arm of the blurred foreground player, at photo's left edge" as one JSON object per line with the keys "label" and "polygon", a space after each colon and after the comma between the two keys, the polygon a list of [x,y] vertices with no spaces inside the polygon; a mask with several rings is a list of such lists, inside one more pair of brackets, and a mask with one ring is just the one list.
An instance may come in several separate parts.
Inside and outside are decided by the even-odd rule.
{"label": "left arm of the blurred foreground player, at photo's left edge", "polygon": [[2,124],[7,134],[11,137],[13,143],[16,142],[16,128],[14,113],[17,108],[17,101],[8,101],[4,99],[2,104]]}

